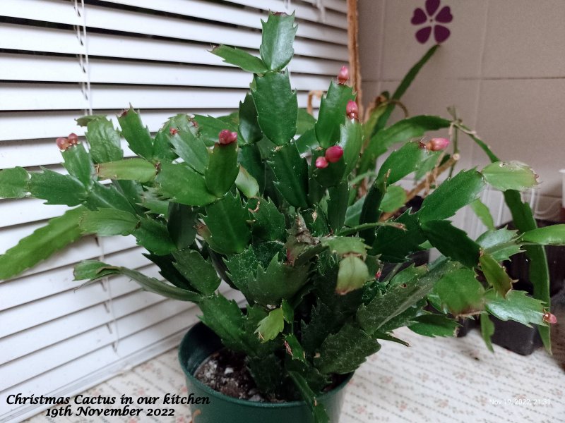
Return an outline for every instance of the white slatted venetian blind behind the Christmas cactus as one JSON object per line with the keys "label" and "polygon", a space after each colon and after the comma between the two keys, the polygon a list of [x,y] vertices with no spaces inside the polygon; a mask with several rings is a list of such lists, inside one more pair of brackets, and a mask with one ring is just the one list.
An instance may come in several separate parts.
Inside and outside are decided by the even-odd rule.
{"label": "white slatted venetian blind behind the Christmas cactus", "polygon": [[[0,169],[62,171],[54,138],[82,136],[73,119],[84,114],[131,103],[154,131],[179,112],[230,113],[251,76],[207,50],[257,54],[268,10],[296,11],[290,70],[305,107],[347,62],[345,0],[0,0]],[[0,200],[0,253],[64,209]],[[82,259],[159,276],[141,252],[130,238],[88,237],[0,282],[0,422],[45,408],[8,405],[11,393],[68,396],[178,343],[195,307],[120,277],[75,290]]]}

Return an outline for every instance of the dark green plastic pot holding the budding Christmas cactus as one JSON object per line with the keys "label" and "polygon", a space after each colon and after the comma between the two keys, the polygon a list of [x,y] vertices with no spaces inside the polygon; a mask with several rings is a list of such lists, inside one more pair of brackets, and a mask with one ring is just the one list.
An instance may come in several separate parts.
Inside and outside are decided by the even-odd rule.
{"label": "dark green plastic pot holding the budding Christmas cactus", "polygon": [[[194,372],[210,355],[222,348],[220,338],[203,323],[194,325],[179,346],[179,361],[186,376],[190,410],[194,423],[312,423],[311,411],[304,401],[256,403],[225,396],[194,377]],[[317,399],[326,406],[332,423],[339,422],[345,385],[352,374],[332,391]],[[206,400],[208,398],[208,400]],[[208,403],[206,403],[208,402]]]}

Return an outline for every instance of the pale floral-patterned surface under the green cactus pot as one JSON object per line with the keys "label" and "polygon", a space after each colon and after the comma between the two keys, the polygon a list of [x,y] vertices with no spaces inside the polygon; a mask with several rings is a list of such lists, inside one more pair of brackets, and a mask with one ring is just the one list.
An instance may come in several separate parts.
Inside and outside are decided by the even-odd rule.
{"label": "pale floral-patterned surface under the green cactus pot", "polygon": [[[565,322],[565,313],[559,317]],[[340,423],[565,421],[565,324],[554,326],[553,357],[543,350],[523,357],[496,345],[491,354],[477,331],[465,338],[432,339],[401,329],[396,336],[408,341],[410,348],[383,343],[381,351],[362,365],[347,386]],[[165,393],[186,394],[176,350],[95,386],[85,395],[119,397],[124,393],[134,401],[140,396],[158,396],[157,407]],[[173,407],[174,417],[50,419],[38,415],[29,422],[191,421],[185,406]]]}

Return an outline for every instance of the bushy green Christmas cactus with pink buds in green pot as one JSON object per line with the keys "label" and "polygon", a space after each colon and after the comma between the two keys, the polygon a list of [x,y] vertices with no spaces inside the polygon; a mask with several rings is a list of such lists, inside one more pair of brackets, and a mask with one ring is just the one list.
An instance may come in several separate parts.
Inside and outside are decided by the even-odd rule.
{"label": "bushy green Christmas cactus with pink buds in green pot", "polygon": [[[267,398],[302,397],[324,422],[316,396],[382,341],[403,343],[393,335],[401,326],[452,336],[456,317],[480,316],[489,343],[489,314],[552,323],[547,303],[513,290],[499,262],[525,249],[540,263],[540,245],[564,243],[565,226],[531,226],[519,191],[536,184],[535,173],[499,161],[459,121],[415,116],[386,127],[393,103],[385,102],[364,127],[347,69],[330,83],[317,119],[299,109],[286,69],[296,28],[294,16],[271,13],[260,57],[213,49],[253,74],[235,114],[180,114],[155,135],[133,109],[118,116],[119,131],[104,116],[85,116],[78,123],[86,142],[74,134],[57,140],[68,174],[0,171],[0,197],[73,207],[0,256],[0,278],[84,235],[133,235],[163,279],[88,260],[76,266],[76,280],[121,274],[145,290],[195,302],[223,345],[246,356]],[[420,139],[441,128],[470,134],[493,163],[448,178],[417,212],[386,215],[406,199],[398,182],[432,171],[445,156],[448,140]],[[136,157],[124,158],[121,137]],[[393,145],[400,147],[375,171]],[[468,204],[486,216],[477,199],[488,185],[505,192],[521,231],[492,228],[472,240],[449,219]],[[431,264],[381,273],[383,264],[432,247],[442,255]],[[219,293],[222,280],[242,293],[246,309]]]}

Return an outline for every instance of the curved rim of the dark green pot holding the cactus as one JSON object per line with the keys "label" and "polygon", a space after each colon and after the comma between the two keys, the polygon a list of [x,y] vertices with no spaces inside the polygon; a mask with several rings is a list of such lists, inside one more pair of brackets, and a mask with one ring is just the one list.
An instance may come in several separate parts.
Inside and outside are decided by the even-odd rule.
{"label": "curved rim of the dark green pot holding the cactus", "polygon": [[[304,400],[299,400],[299,401],[288,401],[286,403],[261,403],[258,401],[249,401],[249,400],[240,400],[239,398],[234,398],[231,396],[227,396],[219,391],[215,391],[212,388],[210,388],[210,386],[203,384],[201,381],[199,381],[196,376],[194,376],[194,374],[192,374],[191,372],[189,372],[189,369],[186,368],[186,362],[184,362],[184,360],[182,360],[182,350],[184,350],[184,348],[188,348],[188,345],[186,345],[188,343],[188,338],[189,335],[192,331],[192,329],[194,329],[194,327],[196,327],[197,325],[204,325],[201,321],[198,321],[198,323],[194,324],[193,326],[191,326],[191,328],[189,329],[189,331],[187,331],[184,336],[182,337],[182,341],[179,344],[179,353],[178,353],[178,357],[179,357],[179,362],[181,364],[181,368],[182,371],[184,372],[184,376],[186,376],[187,378],[189,378],[191,380],[191,383],[195,384],[196,386],[198,386],[198,388],[200,388],[202,391],[205,391],[209,396],[214,396],[216,398],[220,398],[222,400],[225,400],[229,403],[234,403],[237,405],[243,405],[246,407],[264,407],[264,408],[290,408],[290,407],[301,407],[304,405],[307,405],[306,401]],[[207,357],[208,358],[208,357]],[[202,363],[201,363],[202,364]],[[347,377],[338,385],[335,386],[335,388],[333,388],[331,391],[328,392],[324,392],[321,393],[319,396],[316,396],[316,400],[319,401],[323,401],[324,399],[326,399],[328,396],[331,396],[331,394],[342,390],[343,388],[345,388],[345,386],[349,383],[349,381],[351,380],[352,376],[353,376],[354,372],[351,372],[350,374],[347,374]]]}

